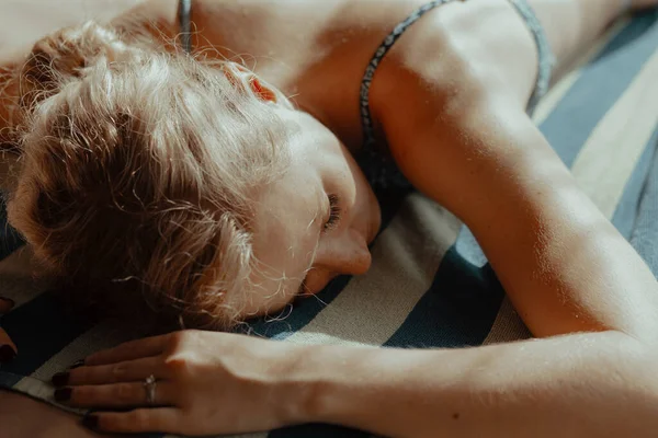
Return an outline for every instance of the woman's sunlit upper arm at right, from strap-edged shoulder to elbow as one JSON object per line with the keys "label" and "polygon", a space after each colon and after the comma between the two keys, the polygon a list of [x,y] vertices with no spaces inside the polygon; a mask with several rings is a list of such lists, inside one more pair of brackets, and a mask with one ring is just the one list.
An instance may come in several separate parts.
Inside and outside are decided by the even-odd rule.
{"label": "woman's sunlit upper arm at right, from strap-edged shoulder to elbow", "polygon": [[[467,4],[453,14],[477,22]],[[407,46],[373,82],[371,103],[398,165],[470,228],[536,336],[615,330],[656,342],[658,283],[525,115],[527,81],[500,67],[534,78],[524,24],[500,12],[504,32],[485,46],[477,38],[486,34],[451,24],[444,11],[445,25],[441,14],[423,24],[432,38],[422,27],[400,38]],[[415,55],[430,49],[441,54],[433,62]]]}

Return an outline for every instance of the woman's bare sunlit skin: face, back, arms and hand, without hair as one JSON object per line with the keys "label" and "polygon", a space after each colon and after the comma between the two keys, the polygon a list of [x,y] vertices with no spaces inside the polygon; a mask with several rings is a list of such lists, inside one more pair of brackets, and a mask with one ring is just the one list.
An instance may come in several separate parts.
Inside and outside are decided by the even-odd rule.
{"label": "woman's bare sunlit skin: face, back, arms and hand, without hair", "polygon": [[[272,314],[370,267],[381,219],[352,159],[363,139],[359,87],[374,48],[423,2],[195,1],[196,54],[253,56],[254,73],[298,108],[271,102],[291,128],[293,162],[258,196],[259,269],[247,297],[228,297],[245,315]],[[559,76],[624,7],[658,2],[530,3]],[[175,1],[143,7],[175,36]],[[180,331],[88,356],[54,378],[54,396],[95,408],[87,425],[103,431],[214,435],[325,422],[399,437],[653,436],[658,285],[525,114],[536,64],[509,2],[452,2],[405,33],[371,90],[382,146],[468,224],[536,339],[410,350]],[[155,405],[144,388],[150,374]],[[10,408],[18,417],[43,407]]]}

